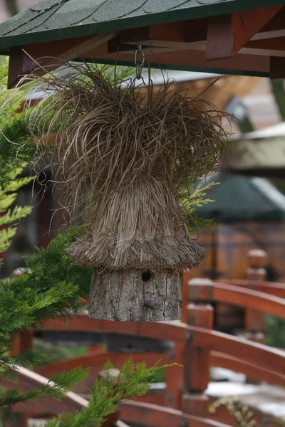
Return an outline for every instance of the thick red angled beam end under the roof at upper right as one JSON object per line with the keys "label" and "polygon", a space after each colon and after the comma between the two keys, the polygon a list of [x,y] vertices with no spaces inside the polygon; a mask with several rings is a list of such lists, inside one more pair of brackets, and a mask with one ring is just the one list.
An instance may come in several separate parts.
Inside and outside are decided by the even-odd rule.
{"label": "thick red angled beam end under the roof at upper right", "polygon": [[283,7],[270,6],[209,18],[206,59],[236,55]]}

